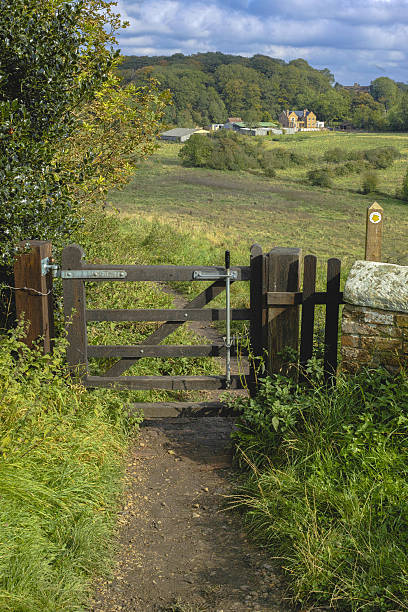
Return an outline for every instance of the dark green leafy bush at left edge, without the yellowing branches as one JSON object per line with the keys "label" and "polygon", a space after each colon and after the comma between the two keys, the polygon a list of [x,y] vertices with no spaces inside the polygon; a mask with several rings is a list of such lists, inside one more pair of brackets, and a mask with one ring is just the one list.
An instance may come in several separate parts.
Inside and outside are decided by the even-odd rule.
{"label": "dark green leafy bush at left edge, without the yellowing branches", "polygon": [[[58,4],[58,3],[57,3]],[[115,61],[89,68],[86,6],[0,0],[0,256],[20,240],[60,243],[77,223],[69,170],[56,152],[73,132],[74,110],[91,100]],[[77,169],[78,171],[78,169]],[[77,172],[77,180],[81,180]]]}

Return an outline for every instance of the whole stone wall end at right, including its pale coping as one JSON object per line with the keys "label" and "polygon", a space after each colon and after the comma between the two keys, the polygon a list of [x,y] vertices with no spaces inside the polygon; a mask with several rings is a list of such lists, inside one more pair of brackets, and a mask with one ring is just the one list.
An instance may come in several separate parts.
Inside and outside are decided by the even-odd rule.
{"label": "whole stone wall end at right, including its pale coping", "polygon": [[344,302],[342,368],[408,367],[408,266],[357,261]]}

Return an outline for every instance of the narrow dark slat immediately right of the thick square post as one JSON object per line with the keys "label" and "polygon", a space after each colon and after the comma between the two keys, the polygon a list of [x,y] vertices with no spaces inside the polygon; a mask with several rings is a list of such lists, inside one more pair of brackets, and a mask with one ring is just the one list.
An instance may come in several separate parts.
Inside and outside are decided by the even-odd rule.
{"label": "narrow dark slat immediately right of the thick square post", "polygon": [[300,365],[305,366],[313,355],[313,334],[315,319],[315,301],[313,294],[316,290],[316,255],[306,255],[303,263],[303,304],[302,324],[300,332]]}

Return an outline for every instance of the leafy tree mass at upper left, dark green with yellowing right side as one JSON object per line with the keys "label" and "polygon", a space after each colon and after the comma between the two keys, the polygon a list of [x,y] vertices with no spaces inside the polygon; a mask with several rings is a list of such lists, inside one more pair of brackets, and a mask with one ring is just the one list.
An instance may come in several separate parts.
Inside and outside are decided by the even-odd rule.
{"label": "leafy tree mass at upper left, dark green with yellowing right side", "polygon": [[77,196],[95,191],[102,179],[112,185],[115,164],[120,182],[130,163],[119,162],[120,154],[130,153],[130,145],[139,143],[138,154],[151,150],[163,99],[154,91],[149,97],[134,87],[119,89],[112,75],[118,54],[109,44],[123,24],[113,5],[104,0],[1,2],[4,263],[11,262],[20,240],[62,244],[79,221]]}

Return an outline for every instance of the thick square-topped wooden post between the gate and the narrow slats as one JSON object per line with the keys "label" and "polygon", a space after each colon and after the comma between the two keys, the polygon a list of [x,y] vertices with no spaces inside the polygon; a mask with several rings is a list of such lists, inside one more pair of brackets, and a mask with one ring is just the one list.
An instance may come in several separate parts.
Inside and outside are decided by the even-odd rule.
{"label": "thick square-topped wooden post between the gate and the narrow slats", "polygon": [[[298,248],[276,247],[267,256],[268,291],[300,290],[300,259]],[[268,311],[268,374],[282,371],[285,359],[281,353],[286,347],[299,347],[299,306]]]}

